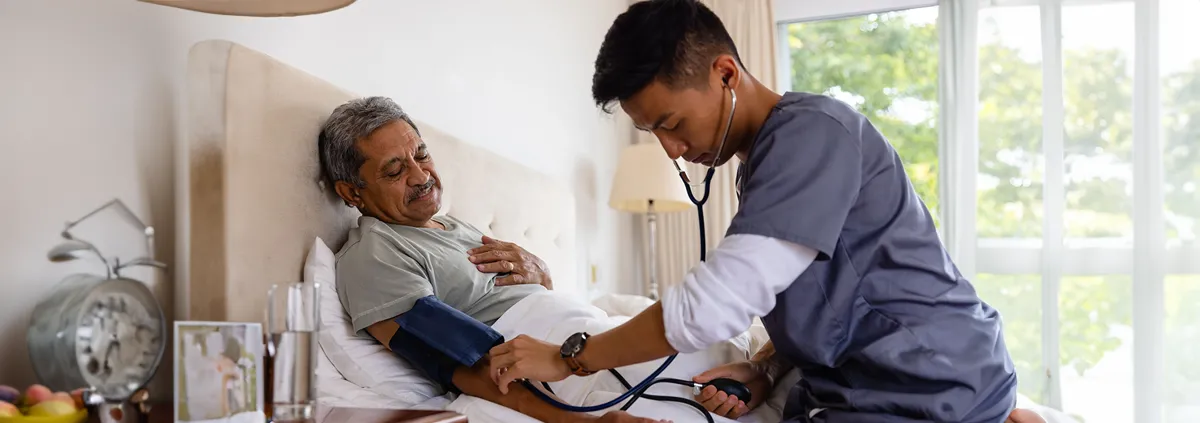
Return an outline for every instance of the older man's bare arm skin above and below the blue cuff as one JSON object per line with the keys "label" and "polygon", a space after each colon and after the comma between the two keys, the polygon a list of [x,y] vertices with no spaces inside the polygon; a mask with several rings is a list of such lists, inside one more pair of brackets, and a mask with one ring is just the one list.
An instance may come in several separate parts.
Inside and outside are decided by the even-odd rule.
{"label": "older man's bare arm skin above and below the blue cuff", "polygon": [[[398,317],[398,316],[397,316]],[[374,336],[388,350],[391,350],[391,336],[400,329],[395,318],[385,320],[367,327],[367,333]],[[502,394],[488,373],[488,357],[475,363],[472,368],[458,367],[454,373],[454,385],[464,394],[482,398],[485,400],[516,410],[517,412],[533,417],[541,422],[607,422],[607,423],[650,423],[652,419],[637,418],[626,412],[610,412],[604,416],[592,416],[588,413],[570,412],[546,404],[523,385],[514,385],[508,394]]]}

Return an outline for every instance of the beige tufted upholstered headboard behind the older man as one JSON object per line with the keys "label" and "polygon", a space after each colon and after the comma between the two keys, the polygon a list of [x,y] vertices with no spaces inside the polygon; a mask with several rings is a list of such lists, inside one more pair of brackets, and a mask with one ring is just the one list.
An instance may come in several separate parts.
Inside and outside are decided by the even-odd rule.
{"label": "beige tufted upholstered headboard behind the older man", "polygon": [[[227,41],[193,46],[187,72],[188,270],[176,314],[258,322],[270,285],[300,280],[313,238],[336,252],[355,224],[358,212],[319,178],[317,131],[358,95]],[[414,119],[442,175],[442,213],[524,246],[551,268],[556,290],[584,299],[565,185]],[[512,186],[532,197],[508,201],[503,187]]]}

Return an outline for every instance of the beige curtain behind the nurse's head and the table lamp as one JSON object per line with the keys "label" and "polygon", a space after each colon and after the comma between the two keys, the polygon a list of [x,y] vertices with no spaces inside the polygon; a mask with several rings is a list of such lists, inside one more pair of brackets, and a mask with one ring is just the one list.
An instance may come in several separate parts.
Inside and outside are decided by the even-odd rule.
{"label": "beige curtain behind the nurse's head and the table lamp", "polygon": [[[637,2],[637,1],[631,1]],[[775,84],[775,16],[773,0],[701,0],[713,10],[725,29],[733,37],[738,55],[750,72],[763,85]],[[637,143],[658,143],[652,133],[637,131]],[[708,203],[704,205],[704,234],[707,248],[716,246],[737,212],[737,193],[734,191],[738,160],[734,157],[713,174]],[[698,165],[688,165],[689,173],[703,175],[707,169]],[[697,198],[703,196],[702,189],[696,189]],[[644,222],[642,222],[644,225]],[[700,232],[695,210],[665,214],[658,221],[658,281],[659,290],[683,280],[684,274],[700,262]],[[648,231],[642,231],[642,245],[649,242]],[[643,260],[649,260],[649,252],[643,251]],[[644,273],[644,270],[643,270]],[[647,275],[648,278],[648,275]]]}

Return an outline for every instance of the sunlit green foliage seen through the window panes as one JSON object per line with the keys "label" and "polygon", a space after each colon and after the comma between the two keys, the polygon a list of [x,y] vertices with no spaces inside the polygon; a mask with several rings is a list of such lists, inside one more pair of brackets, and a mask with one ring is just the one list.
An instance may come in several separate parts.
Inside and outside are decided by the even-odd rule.
{"label": "sunlit green foliage seen through the window panes", "polygon": [[[869,117],[896,148],[916,191],[936,215],[938,31],[935,22],[910,17],[894,12],[790,25],[792,89],[832,95]],[[1040,54],[983,42],[995,36],[979,38],[976,226],[980,238],[1040,238],[1045,165]],[[1070,238],[1132,234],[1130,60],[1116,49],[1063,52],[1064,221]],[[1164,192],[1174,222],[1169,233],[1176,236],[1200,218],[1200,62],[1189,72],[1165,77],[1162,96]],[[1040,276],[978,275],[974,285],[1004,317],[1020,391],[1040,400],[1045,373]],[[1175,291],[1168,298],[1177,293],[1184,302],[1200,303],[1194,285],[1168,284],[1168,288]],[[1129,275],[1063,278],[1058,365],[1084,374],[1121,345],[1112,328],[1132,324],[1132,290]],[[1195,327],[1200,316],[1182,321]],[[1200,381],[1200,364],[1186,371]]]}

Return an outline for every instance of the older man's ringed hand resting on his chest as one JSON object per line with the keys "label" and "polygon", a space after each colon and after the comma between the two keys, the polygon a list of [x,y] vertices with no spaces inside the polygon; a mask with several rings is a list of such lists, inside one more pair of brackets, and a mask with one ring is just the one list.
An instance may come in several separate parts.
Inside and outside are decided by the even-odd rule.
{"label": "older man's ringed hand resting on his chest", "polygon": [[484,236],[484,245],[467,251],[475,268],[484,273],[508,274],[496,279],[496,286],[506,285],[541,285],[547,290],[554,288],[554,282],[550,279],[550,270],[546,263],[534,256],[521,245],[505,243],[492,237]]}

